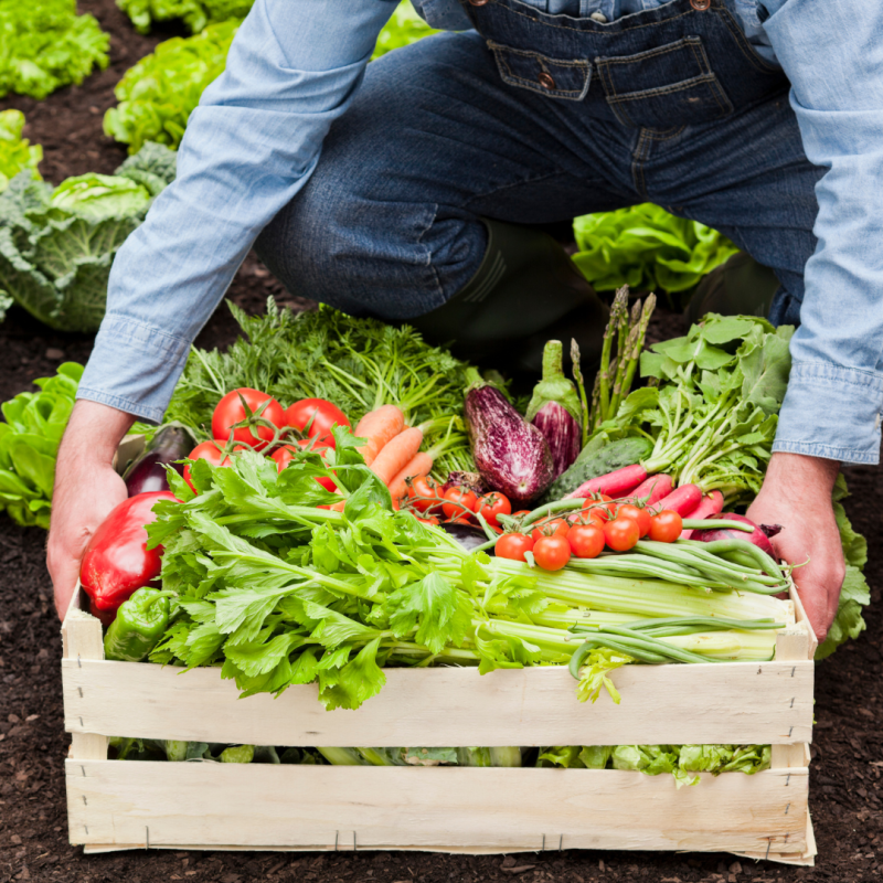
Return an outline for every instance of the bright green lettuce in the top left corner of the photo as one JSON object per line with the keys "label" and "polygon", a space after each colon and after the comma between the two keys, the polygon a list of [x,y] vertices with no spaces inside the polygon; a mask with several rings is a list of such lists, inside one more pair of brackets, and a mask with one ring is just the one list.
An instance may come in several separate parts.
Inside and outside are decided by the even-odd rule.
{"label": "bright green lettuce in the top left corner of the photo", "polygon": [[0,0],[0,98],[45,98],[107,67],[110,38],[76,0]]}

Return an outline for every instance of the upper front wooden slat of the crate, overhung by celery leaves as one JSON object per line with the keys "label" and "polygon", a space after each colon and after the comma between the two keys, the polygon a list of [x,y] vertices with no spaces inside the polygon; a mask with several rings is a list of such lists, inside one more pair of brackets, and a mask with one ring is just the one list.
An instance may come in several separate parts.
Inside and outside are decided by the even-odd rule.
{"label": "upper front wooden slat of the crate, overhung by celery leaves", "polygon": [[[390,669],[358,711],[327,712],[315,684],[237,700],[219,669],[63,660],[65,727],[266,745],[619,745],[807,742],[812,663],[628,666],[623,701],[577,701],[564,668]],[[358,735],[357,735],[358,734]]]}

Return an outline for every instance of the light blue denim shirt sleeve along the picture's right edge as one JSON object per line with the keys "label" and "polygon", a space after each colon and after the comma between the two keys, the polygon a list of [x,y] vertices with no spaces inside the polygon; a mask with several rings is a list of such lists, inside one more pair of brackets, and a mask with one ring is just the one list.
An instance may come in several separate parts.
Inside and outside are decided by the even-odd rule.
{"label": "light blue denim shirt sleeve along the picture's right edge", "polygon": [[[773,449],[875,464],[883,411],[883,4],[764,0],[816,188],[816,253]],[[787,206],[783,208],[787,211]]]}

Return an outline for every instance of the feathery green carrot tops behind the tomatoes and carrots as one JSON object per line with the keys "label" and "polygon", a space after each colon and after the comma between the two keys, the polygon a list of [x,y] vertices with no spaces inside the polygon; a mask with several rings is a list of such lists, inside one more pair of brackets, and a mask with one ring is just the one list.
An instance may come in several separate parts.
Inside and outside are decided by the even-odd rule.
{"label": "feathery green carrot tops behind the tomatoes and carrots", "polygon": [[353,319],[329,307],[295,316],[270,298],[266,315],[246,316],[228,306],[243,337],[225,353],[191,350],[167,419],[209,427],[219,398],[241,386],[269,393],[283,406],[327,398],[353,426],[392,404],[408,425],[423,428],[439,475],[475,471],[461,417],[466,362],[424,343],[407,326]]}

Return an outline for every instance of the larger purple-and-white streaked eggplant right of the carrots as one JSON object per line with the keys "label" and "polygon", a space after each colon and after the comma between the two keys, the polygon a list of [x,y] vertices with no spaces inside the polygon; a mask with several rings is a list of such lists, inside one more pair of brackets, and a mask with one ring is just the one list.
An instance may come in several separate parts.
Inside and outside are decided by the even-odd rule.
{"label": "larger purple-and-white streaked eggplant right of the carrots", "polygon": [[481,478],[513,503],[526,503],[553,481],[552,453],[543,434],[528,423],[477,371],[466,391],[466,422]]}

